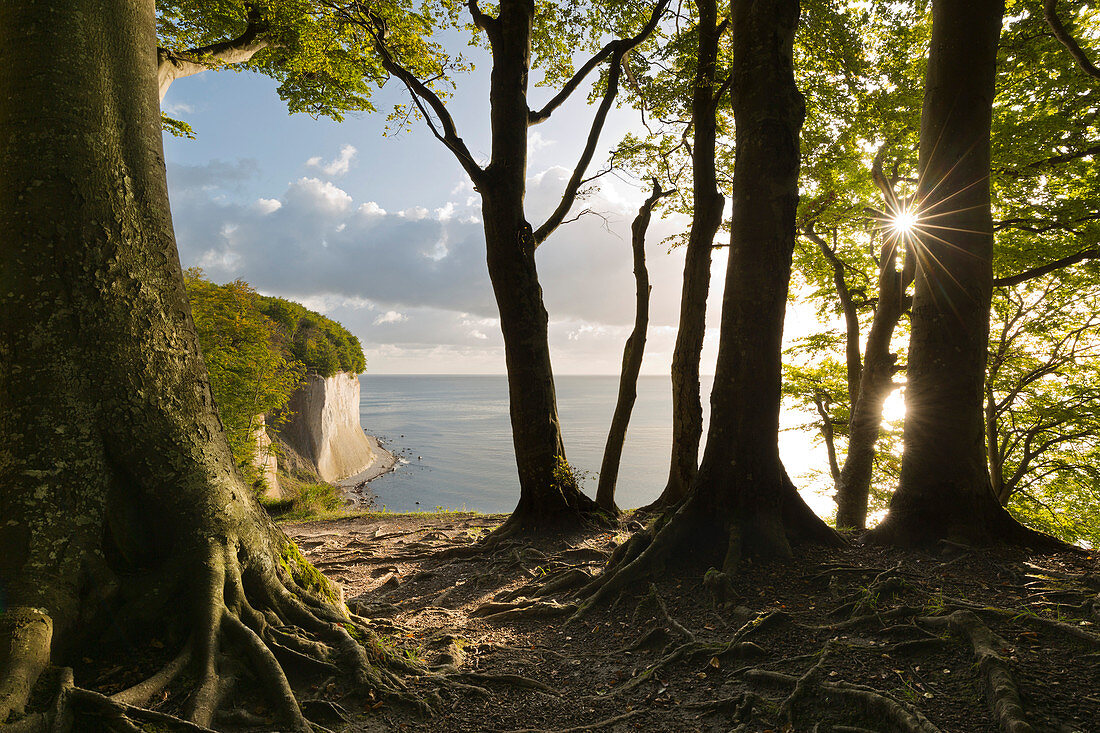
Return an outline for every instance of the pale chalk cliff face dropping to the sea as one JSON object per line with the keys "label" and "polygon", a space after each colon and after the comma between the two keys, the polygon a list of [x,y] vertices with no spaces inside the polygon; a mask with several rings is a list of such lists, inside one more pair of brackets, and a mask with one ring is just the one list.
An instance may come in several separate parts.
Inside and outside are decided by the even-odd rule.
{"label": "pale chalk cliff face dropping to the sea", "polygon": [[317,468],[323,481],[337,481],[369,468],[374,451],[359,424],[359,379],[338,372],[328,379],[310,374],[287,409],[290,419],[278,437]]}

